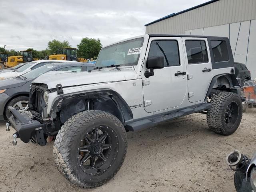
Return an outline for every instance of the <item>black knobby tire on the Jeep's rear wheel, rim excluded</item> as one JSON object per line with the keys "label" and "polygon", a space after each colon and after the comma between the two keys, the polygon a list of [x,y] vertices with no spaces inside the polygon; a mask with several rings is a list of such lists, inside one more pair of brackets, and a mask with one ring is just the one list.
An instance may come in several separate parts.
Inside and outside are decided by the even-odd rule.
{"label": "black knobby tire on the Jeep's rear wheel, rim excluded", "polygon": [[[240,97],[232,92],[219,92],[212,96],[210,102],[212,106],[207,111],[207,124],[209,129],[221,135],[233,134],[242,120],[243,106]],[[231,103],[237,106],[237,112],[234,114],[234,116],[236,116],[236,118],[234,118],[235,122],[230,126],[226,124],[225,114],[227,107]]]}

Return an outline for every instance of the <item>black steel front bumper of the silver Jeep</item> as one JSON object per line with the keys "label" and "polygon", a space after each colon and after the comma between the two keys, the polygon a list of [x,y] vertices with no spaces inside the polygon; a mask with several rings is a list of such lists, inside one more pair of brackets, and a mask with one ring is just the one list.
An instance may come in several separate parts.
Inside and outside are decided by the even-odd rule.
{"label": "black steel front bumper of the silver Jeep", "polygon": [[9,122],[17,132],[17,138],[20,138],[24,143],[28,143],[32,136],[40,139],[40,142],[37,140],[38,144],[45,145],[43,127],[44,124],[41,124],[37,120],[29,118],[26,114],[20,114],[13,107],[8,107],[8,110],[12,114],[9,118]]}

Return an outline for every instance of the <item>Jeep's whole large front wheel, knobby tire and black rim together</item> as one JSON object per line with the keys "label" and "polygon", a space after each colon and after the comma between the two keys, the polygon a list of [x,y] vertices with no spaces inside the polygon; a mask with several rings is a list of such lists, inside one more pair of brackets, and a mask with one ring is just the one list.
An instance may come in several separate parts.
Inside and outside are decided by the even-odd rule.
{"label": "Jeep's whole large front wheel, knobby tire and black rim together", "polygon": [[108,182],[126,156],[126,131],[107,112],[90,110],[72,116],[54,143],[54,161],[71,183],[94,188]]}

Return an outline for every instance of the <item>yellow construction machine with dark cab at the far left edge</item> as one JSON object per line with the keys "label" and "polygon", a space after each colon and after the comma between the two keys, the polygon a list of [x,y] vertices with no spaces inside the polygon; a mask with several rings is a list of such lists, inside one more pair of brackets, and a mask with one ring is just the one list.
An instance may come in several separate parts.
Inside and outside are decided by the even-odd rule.
{"label": "yellow construction machine with dark cab at the far left edge", "polygon": [[31,62],[34,60],[32,51],[21,51],[20,54],[20,56],[8,56],[5,59],[5,62],[0,62],[0,69],[14,67],[20,63]]}

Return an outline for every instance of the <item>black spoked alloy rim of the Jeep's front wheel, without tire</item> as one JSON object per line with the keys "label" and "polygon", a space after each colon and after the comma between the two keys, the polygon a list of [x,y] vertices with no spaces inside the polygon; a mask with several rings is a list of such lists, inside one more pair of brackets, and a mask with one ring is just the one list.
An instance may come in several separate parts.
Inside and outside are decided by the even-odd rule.
{"label": "black spoked alloy rim of the Jeep's front wheel, without tire", "polygon": [[96,126],[80,139],[77,160],[80,168],[89,175],[106,172],[116,160],[118,137],[109,126]]}

